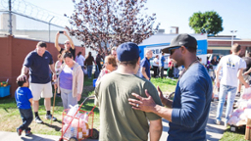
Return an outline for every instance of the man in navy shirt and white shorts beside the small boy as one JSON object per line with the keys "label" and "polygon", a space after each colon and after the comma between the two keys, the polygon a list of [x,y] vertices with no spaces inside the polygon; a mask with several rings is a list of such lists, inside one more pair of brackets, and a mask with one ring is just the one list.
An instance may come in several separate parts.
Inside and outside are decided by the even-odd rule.
{"label": "man in navy shirt and white shorts beside the small boy", "polygon": [[[50,79],[50,71],[53,73],[53,79],[56,79],[55,66],[51,54],[46,51],[45,42],[38,42],[36,49],[31,51],[24,60],[21,74],[17,80],[22,81],[27,79],[29,72],[30,90],[33,96],[33,110],[35,114],[35,122],[43,123],[38,115],[39,100],[44,98],[44,105],[46,108],[46,119],[51,119],[51,97],[52,97],[52,86]],[[57,120],[53,117],[53,120]]]}

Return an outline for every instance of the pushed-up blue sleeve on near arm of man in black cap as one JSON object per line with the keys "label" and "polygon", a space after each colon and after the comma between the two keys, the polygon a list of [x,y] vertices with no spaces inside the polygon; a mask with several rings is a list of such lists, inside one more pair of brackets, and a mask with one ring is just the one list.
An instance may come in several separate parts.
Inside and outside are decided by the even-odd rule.
{"label": "pushed-up blue sleeve on near arm of man in black cap", "polygon": [[181,108],[172,110],[172,122],[190,128],[196,125],[206,104],[206,85],[201,79],[193,80],[181,90]]}

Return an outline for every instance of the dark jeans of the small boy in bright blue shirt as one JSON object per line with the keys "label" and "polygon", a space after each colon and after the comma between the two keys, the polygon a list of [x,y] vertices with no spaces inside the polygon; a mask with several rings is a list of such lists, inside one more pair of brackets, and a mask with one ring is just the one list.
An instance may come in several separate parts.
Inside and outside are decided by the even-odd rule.
{"label": "dark jeans of the small boy in bright blue shirt", "polygon": [[28,131],[29,125],[33,120],[33,114],[31,109],[19,109],[23,124],[18,127],[18,129]]}

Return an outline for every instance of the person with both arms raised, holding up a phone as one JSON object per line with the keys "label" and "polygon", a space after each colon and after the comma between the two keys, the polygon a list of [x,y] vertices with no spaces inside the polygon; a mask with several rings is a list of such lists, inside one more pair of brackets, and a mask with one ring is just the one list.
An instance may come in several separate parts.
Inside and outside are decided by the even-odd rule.
{"label": "person with both arms raised, holding up a phone", "polygon": [[59,38],[60,32],[56,34],[55,47],[59,51],[60,54],[62,54],[64,50],[66,50],[67,52],[70,52],[73,55],[73,59],[75,60],[75,46],[73,44],[73,41],[66,31],[64,31],[62,34],[64,34],[68,38],[68,40],[64,42],[64,48],[60,47],[58,44],[58,38]]}

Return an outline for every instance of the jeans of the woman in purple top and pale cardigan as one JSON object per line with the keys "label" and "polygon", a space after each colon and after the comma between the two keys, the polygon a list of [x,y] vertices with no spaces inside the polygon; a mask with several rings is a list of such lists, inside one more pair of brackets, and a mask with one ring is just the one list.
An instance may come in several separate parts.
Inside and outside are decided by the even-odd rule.
{"label": "jeans of the woman in purple top and pale cardigan", "polygon": [[60,91],[64,109],[69,109],[70,108],[69,105],[75,106],[76,104],[78,104],[77,96],[76,97],[72,96],[72,90],[60,87]]}

